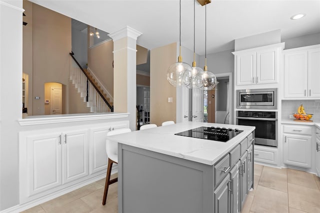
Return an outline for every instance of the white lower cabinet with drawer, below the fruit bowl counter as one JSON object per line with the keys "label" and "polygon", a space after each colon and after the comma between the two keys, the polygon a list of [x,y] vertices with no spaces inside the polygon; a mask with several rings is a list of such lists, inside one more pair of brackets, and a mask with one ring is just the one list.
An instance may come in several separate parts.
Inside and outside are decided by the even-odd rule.
{"label": "white lower cabinet with drawer, below the fruit bowl counter", "polygon": [[312,127],[283,125],[283,163],[311,168]]}

